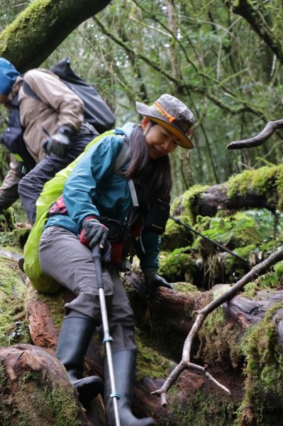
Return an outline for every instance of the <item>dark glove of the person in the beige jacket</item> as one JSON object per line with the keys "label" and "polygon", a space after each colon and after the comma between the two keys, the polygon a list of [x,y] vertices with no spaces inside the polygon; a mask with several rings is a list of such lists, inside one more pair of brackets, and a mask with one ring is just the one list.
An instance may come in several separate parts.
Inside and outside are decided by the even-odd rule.
{"label": "dark glove of the person in the beige jacket", "polygon": [[61,126],[56,133],[49,138],[44,139],[43,149],[48,155],[55,154],[59,158],[65,158],[68,148],[71,144],[70,138],[74,131],[70,126]]}

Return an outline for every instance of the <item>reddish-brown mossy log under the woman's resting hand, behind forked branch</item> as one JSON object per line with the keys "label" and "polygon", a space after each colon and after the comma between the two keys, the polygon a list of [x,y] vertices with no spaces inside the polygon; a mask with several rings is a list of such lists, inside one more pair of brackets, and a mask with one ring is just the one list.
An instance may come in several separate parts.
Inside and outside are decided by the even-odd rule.
{"label": "reddish-brown mossy log under the woman's resting hand, behind forked branch", "polygon": [[[281,271],[281,262],[278,268]],[[240,330],[243,334],[248,327],[262,321],[267,310],[283,300],[283,290],[277,289],[279,276],[280,273],[275,271],[262,275],[257,282],[247,285],[246,292],[235,295],[229,302],[224,303],[218,309],[218,312],[223,312],[219,314],[221,327],[224,327],[226,322],[228,329],[234,329],[235,332]],[[177,354],[182,353],[184,337],[187,337],[194,323],[196,311],[201,310],[217,295],[231,288],[231,285],[227,284],[215,285],[209,291],[200,292],[194,285],[174,283],[174,290],[158,288],[150,298],[147,298],[143,290],[143,280],[138,273],[127,275],[126,283],[138,327],[145,332],[150,330],[152,339],[159,337],[174,359]],[[270,283],[270,287],[260,290],[260,285],[263,283],[264,285]],[[216,318],[217,321],[218,318]],[[281,347],[283,322],[279,320],[279,317],[277,317],[277,325],[278,345]],[[174,335],[174,346],[170,339],[171,334]],[[206,330],[206,334],[209,336],[209,329]],[[207,362],[208,359],[204,361]]]}

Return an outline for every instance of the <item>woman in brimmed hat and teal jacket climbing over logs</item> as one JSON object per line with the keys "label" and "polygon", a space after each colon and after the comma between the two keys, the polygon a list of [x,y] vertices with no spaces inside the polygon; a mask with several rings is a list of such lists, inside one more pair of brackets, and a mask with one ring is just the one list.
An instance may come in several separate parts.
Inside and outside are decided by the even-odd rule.
{"label": "woman in brimmed hat and teal jacket climbing over logs", "polygon": [[[56,356],[79,393],[77,383],[82,377],[91,336],[96,327],[100,334],[102,332],[91,249],[97,244],[103,249],[104,261],[108,261],[103,273],[104,291],[113,337],[111,349],[122,426],[156,423],[151,417],[138,419],[131,411],[137,349],[133,311],[119,271],[126,271],[128,254],[137,253],[148,295],[157,286],[172,288],[157,275],[160,229],[165,229],[169,211],[164,223],[155,226],[152,222],[160,221],[164,205],[169,206],[172,187],[169,154],[177,146],[193,148],[189,135],[194,117],[179,99],[162,94],[151,107],[137,102],[136,108],[144,116],[138,126],[127,123],[116,128],[113,134],[91,146],[74,166],[62,196],[50,208],[39,249],[43,273],[76,296],[65,304],[66,316]],[[126,163],[117,173],[117,158],[125,146],[128,146]],[[99,379],[93,376],[92,388],[91,378],[88,379],[91,389],[88,394],[93,398],[100,391]],[[104,402],[107,425],[113,426],[115,417],[107,359]]]}

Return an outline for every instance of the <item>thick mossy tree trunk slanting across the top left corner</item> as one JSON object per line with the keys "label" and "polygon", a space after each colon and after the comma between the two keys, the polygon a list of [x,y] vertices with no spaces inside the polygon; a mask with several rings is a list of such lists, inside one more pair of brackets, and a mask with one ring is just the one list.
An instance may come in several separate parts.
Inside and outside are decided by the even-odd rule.
{"label": "thick mossy tree trunk slanting across the top left corner", "polygon": [[0,55],[20,72],[38,67],[63,40],[111,0],[35,0],[0,34]]}

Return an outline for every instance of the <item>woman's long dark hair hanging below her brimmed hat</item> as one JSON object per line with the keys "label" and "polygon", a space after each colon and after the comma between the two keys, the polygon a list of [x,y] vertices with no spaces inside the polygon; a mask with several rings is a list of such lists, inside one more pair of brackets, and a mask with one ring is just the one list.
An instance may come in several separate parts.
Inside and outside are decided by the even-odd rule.
{"label": "woman's long dark hair hanging below her brimmed hat", "polygon": [[[150,121],[150,126],[155,124],[153,121]],[[131,162],[124,176],[138,183],[138,186],[143,190],[143,196],[146,200],[161,198],[169,202],[172,187],[169,155],[157,158],[156,160],[150,160],[148,146],[145,143],[141,126],[133,129],[129,143],[131,148]]]}

